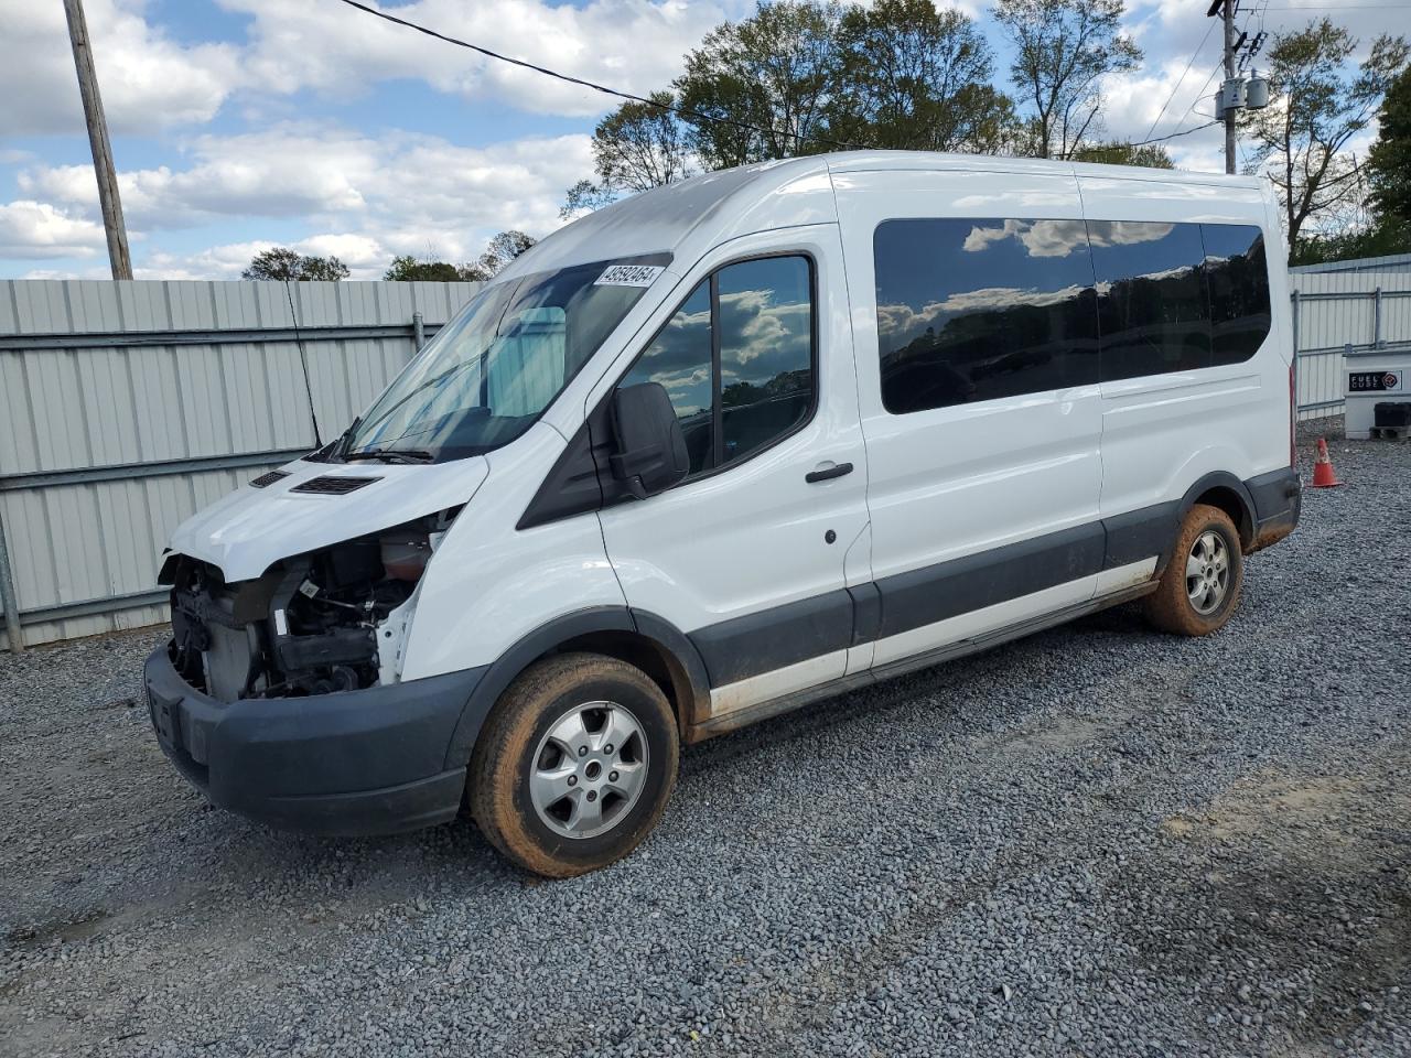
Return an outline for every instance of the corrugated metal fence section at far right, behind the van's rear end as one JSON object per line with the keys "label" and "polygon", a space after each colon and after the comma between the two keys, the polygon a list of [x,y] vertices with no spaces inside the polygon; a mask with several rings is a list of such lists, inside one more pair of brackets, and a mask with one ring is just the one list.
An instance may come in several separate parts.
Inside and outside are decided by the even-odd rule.
{"label": "corrugated metal fence section at far right, behind the van's rear end", "polygon": [[1288,278],[1298,291],[1298,418],[1340,415],[1345,347],[1411,341],[1411,272],[1295,271]]}

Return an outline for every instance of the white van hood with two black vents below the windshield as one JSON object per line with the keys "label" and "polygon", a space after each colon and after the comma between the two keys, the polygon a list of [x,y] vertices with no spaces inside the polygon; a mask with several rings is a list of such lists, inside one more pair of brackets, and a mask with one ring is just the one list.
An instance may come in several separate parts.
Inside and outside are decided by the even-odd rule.
{"label": "white van hood with two black vents below the windshield", "polygon": [[[244,484],[182,522],[171,550],[217,566],[227,583],[254,580],[281,559],[315,552],[402,522],[460,506],[476,495],[490,463],[476,456],[429,466],[309,463],[279,467],[288,477],[262,488]],[[353,491],[347,478],[374,478]],[[353,482],[356,484],[356,482]]]}

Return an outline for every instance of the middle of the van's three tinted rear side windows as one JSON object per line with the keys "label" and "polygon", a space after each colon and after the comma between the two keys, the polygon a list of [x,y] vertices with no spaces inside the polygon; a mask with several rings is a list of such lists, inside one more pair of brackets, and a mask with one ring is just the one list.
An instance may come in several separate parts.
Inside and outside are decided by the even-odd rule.
{"label": "middle of the van's three tinted rear side windows", "polygon": [[1102,379],[1211,365],[1199,224],[1089,220]]}

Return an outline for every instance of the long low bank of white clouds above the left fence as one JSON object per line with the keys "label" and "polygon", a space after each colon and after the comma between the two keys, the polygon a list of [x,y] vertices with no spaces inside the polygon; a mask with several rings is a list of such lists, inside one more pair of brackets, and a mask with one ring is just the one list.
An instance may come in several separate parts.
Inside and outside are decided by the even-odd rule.
{"label": "long low bank of white clouds above the left fence", "polygon": [[[471,260],[505,229],[542,237],[562,223],[564,189],[591,166],[581,134],[460,147],[439,137],[368,137],[305,124],[202,137],[190,155],[185,169],[119,175],[134,237],[237,219],[258,234],[267,220],[303,220],[316,234],[299,248],[336,254],[360,278],[381,275],[396,254]],[[34,166],[18,183],[31,206],[96,227],[97,192],[87,166]],[[24,245],[18,236],[14,241]],[[147,272],[219,278],[238,274],[257,244],[152,255],[144,265]],[[32,255],[32,248],[13,255]]]}

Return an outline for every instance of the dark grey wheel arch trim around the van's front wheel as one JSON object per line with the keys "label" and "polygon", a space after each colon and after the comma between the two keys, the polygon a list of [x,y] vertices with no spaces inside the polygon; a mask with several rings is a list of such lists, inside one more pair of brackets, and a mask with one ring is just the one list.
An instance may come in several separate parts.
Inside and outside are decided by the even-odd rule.
{"label": "dark grey wheel arch trim around the van's front wheel", "polygon": [[615,657],[646,673],[670,703],[683,739],[710,708],[706,664],[684,633],[655,614],[628,607],[591,607],[540,625],[487,667],[452,735],[446,769],[470,765],[485,718],[525,669],[570,650]]}

